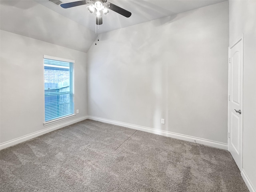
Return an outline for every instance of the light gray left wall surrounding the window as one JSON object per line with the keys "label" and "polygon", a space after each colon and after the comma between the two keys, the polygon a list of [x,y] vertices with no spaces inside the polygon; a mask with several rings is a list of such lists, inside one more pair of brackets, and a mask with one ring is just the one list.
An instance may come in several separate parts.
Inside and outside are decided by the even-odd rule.
{"label": "light gray left wall surrounding the window", "polygon": [[[0,143],[82,118],[87,115],[86,57],[84,52],[0,30],[1,106]],[[43,55],[75,60],[74,118],[43,126]]]}

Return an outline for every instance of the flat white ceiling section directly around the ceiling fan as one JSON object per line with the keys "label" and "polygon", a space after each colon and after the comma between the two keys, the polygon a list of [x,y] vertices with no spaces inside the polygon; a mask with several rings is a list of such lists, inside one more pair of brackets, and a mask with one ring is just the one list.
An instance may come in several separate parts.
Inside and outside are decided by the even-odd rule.
{"label": "flat white ceiling section directly around the ceiling fan", "polygon": [[[67,3],[78,0],[61,1]],[[132,26],[223,1],[225,0],[109,0],[109,2],[132,12],[132,16],[126,18],[110,10],[108,15],[103,16],[103,24],[99,26],[99,30],[97,26],[97,33]],[[96,30],[95,16],[88,12],[86,8],[87,5],[64,9],[60,5],[57,6],[49,0],[36,0],[36,2],[70,18],[94,32]]]}

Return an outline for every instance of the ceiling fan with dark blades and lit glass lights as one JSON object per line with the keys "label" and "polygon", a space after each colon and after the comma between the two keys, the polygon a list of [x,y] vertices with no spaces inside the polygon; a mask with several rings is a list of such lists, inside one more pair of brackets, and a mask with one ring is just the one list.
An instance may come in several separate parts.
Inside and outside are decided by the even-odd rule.
{"label": "ceiling fan with dark blades and lit glass lights", "polygon": [[88,11],[92,14],[95,13],[96,15],[96,25],[102,24],[102,14],[104,15],[108,14],[109,10],[117,12],[127,18],[132,15],[131,12],[121,7],[118,7],[110,2],[107,2],[107,0],[82,0],[82,1],[64,3],[64,4],[61,4],[60,6],[66,9],[66,8],[71,8],[71,7],[76,7],[80,5],[86,5],[86,4],[90,4],[89,6],[87,6]]}

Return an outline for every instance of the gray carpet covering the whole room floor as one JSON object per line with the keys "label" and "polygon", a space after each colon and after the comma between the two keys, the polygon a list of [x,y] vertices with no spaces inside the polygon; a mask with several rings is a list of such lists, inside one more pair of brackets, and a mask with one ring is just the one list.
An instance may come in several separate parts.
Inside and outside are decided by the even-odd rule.
{"label": "gray carpet covering the whole room floor", "polygon": [[84,120],[0,152],[1,192],[248,192],[226,150]]}

